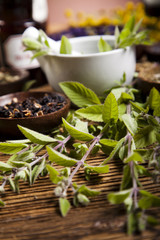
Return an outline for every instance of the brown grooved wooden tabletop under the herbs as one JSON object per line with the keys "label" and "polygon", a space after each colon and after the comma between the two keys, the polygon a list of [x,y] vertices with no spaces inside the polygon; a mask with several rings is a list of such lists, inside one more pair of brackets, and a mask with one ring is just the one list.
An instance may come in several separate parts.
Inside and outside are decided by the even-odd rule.
{"label": "brown grooved wooden tabletop under the herbs", "polygon": [[[48,90],[48,86],[42,88]],[[92,156],[90,163],[99,164],[103,154]],[[1,161],[7,156],[0,155]],[[111,205],[107,194],[119,190],[123,165],[120,160],[110,163],[110,171],[101,177],[93,178],[88,186],[101,190],[101,194],[91,199],[87,207],[74,208],[62,218],[58,210],[58,201],[54,195],[54,185],[48,177],[38,179],[33,186],[21,182],[20,194],[6,188],[3,200],[6,203],[0,209],[0,240],[120,240],[120,239],[160,239],[160,226],[145,231],[142,236],[128,237],[125,234],[125,209],[123,205]],[[78,184],[85,183],[83,171],[75,178]],[[145,190],[160,197],[160,184],[153,184],[148,178],[142,178]],[[69,193],[69,198],[71,194]],[[160,219],[160,209],[151,209]]]}

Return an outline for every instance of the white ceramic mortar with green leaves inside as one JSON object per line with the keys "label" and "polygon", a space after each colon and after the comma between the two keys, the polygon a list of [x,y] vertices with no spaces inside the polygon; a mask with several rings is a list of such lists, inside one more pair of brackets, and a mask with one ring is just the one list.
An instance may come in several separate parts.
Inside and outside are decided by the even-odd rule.
{"label": "white ceramic mortar with green leaves inside", "polygon": [[[81,52],[81,55],[58,54],[38,58],[49,84],[56,91],[60,91],[60,82],[77,81],[101,95],[106,89],[115,86],[124,72],[127,83],[131,83],[136,67],[135,48],[127,47],[99,53],[100,37],[71,38],[72,49]],[[114,36],[102,37],[114,45]]]}

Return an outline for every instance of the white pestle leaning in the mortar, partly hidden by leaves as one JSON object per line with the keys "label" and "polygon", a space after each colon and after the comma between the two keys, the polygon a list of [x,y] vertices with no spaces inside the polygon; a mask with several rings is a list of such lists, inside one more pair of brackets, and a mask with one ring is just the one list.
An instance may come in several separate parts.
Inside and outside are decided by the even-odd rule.
{"label": "white pestle leaning in the mortar, partly hidden by leaves", "polygon": [[[28,27],[22,34],[22,39],[29,38],[29,39],[38,40],[38,37],[39,37],[39,31],[35,27]],[[49,37],[47,37],[47,40],[52,49],[52,54],[59,55],[60,44]],[[72,51],[72,55],[78,56],[78,55],[81,55],[81,53],[77,51]]]}

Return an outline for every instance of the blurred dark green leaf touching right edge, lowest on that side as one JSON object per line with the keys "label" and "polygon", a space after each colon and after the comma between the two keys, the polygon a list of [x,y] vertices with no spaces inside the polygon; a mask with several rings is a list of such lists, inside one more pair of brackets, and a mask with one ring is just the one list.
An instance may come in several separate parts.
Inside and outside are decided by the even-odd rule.
{"label": "blurred dark green leaf touching right edge, lowest on that side", "polygon": [[148,209],[150,207],[160,207],[160,198],[145,191],[139,191],[142,198],[138,202],[138,206],[142,209]]}

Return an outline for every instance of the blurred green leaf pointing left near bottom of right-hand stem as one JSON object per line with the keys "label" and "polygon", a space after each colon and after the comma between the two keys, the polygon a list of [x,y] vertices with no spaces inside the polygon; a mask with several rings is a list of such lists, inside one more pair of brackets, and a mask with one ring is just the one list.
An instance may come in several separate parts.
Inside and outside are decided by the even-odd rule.
{"label": "blurred green leaf pointing left near bottom of right-hand stem", "polygon": [[132,191],[132,189],[127,189],[127,190],[120,191],[120,192],[117,192],[117,193],[109,193],[108,194],[108,200],[112,204],[123,203],[124,200],[129,197],[131,191]]}

